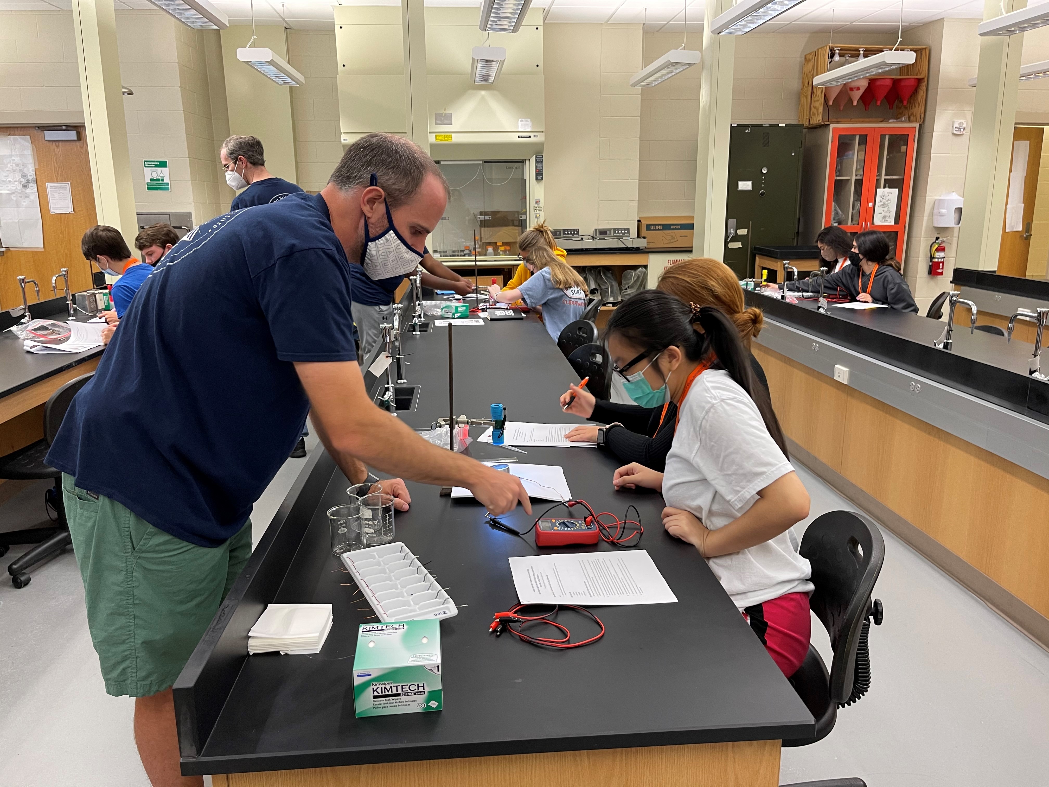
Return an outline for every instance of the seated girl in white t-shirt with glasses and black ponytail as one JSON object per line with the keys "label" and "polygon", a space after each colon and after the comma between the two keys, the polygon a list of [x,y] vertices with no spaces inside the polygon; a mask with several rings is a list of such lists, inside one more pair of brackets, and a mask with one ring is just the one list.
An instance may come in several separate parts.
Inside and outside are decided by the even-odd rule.
{"label": "seated girl in white t-shirt with glasses and black ponytail", "polygon": [[663,390],[678,404],[665,472],[637,463],[617,488],[663,493],[663,526],[699,550],[769,655],[790,677],[809,650],[809,561],[790,528],[809,493],[740,335],[723,312],[648,290],[606,328],[614,369],[628,389]]}

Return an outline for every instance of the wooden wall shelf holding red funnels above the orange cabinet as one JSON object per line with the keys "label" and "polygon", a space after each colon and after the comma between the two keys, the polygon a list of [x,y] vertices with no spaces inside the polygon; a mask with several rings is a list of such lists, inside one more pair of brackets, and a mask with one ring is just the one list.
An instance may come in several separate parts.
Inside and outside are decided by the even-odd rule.
{"label": "wooden wall shelf holding red funnels above the orange cabinet", "polygon": [[[864,56],[871,57],[873,55],[880,55],[883,51],[892,49],[893,47],[864,46],[862,48]],[[902,102],[898,102],[896,106],[891,107],[889,111],[893,113],[893,116],[896,120],[906,121],[908,123],[921,123],[925,120],[928,47],[907,46],[905,48],[915,54],[915,62],[912,65],[900,66],[898,75],[879,73],[874,77],[874,79],[903,79],[905,77],[917,77],[920,81],[918,83],[918,87],[915,88],[914,93],[909,99],[907,99],[907,105],[903,106]],[[840,44],[831,46],[828,44],[827,46],[821,46],[815,51],[811,51],[805,56],[805,67],[801,70],[801,95],[797,107],[798,123],[812,128],[813,126],[826,126],[829,123],[856,123],[866,125],[871,123],[884,123],[886,120],[891,120],[886,118],[835,118],[831,120],[830,111],[827,109],[827,102],[823,99],[823,88],[814,87],[812,81],[819,75],[827,73],[828,57],[833,49],[838,49],[841,57],[849,55],[851,57],[858,58],[860,47],[853,45],[843,46]]]}

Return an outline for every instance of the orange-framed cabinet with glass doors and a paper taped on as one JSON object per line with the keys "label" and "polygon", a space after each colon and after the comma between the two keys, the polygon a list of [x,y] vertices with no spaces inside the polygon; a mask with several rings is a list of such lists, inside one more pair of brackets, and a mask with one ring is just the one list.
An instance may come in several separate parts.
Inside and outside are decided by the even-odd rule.
{"label": "orange-framed cabinet with glass doors and a paper taped on", "polygon": [[880,230],[902,262],[917,132],[902,123],[807,129],[801,242],[829,225]]}

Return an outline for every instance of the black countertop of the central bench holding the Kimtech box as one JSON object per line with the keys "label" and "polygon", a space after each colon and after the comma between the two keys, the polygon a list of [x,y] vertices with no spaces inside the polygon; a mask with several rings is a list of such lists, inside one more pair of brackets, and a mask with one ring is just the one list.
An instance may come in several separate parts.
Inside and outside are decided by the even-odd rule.
{"label": "black countertop of the central bench holding the Kimtech box", "polygon": [[[514,421],[577,422],[557,403],[577,377],[533,316],[453,331],[457,412],[487,417],[489,404],[502,402]],[[418,411],[403,413],[413,427],[447,413],[447,337],[446,327],[405,336],[408,382],[422,385]],[[329,553],[325,511],[345,501],[347,482],[318,446],[175,684],[183,772],[810,735],[805,705],[706,563],[664,532],[662,498],[615,492],[617,463],[597,449],[527,450],[478,443],[468,449],[480,459],[560,464],[573,494],[597,510],[621,513],[635,504],[646,526],[641,548],[678,603],[597,609],[607,633],[578,651],[496,638],[488,632],[492,615],[516,600],[507,558],[535,554],[533,537],[491,529],[473,501],[409,484],[411,510],[397,514],[397,540],[428,563],[459,610],[442,623],[445,707],[357,719],[352,655],[358,623],[371,613],[352,600],[352,580]],[[550,504],[533,505],[538,515]],[[520,508],[504,518],[531,523]],[[611,549],[602,543],[560,551]],[[274,601],[333,604],[335,624],[321,654],[244,655],[248,629]],[[573,620],[570,628],[582,633],[585,623]]]}

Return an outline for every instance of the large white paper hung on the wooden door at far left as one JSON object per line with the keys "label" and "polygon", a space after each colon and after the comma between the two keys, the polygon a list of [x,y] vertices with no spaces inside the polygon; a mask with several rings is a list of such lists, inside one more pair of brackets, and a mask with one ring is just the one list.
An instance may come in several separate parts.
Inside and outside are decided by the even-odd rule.
{"label": "large white paper hung on the wooden door at far left", "polygon": [[28,136],[0,136],[0,240],[12,249],[43,249],[44,226]]}

